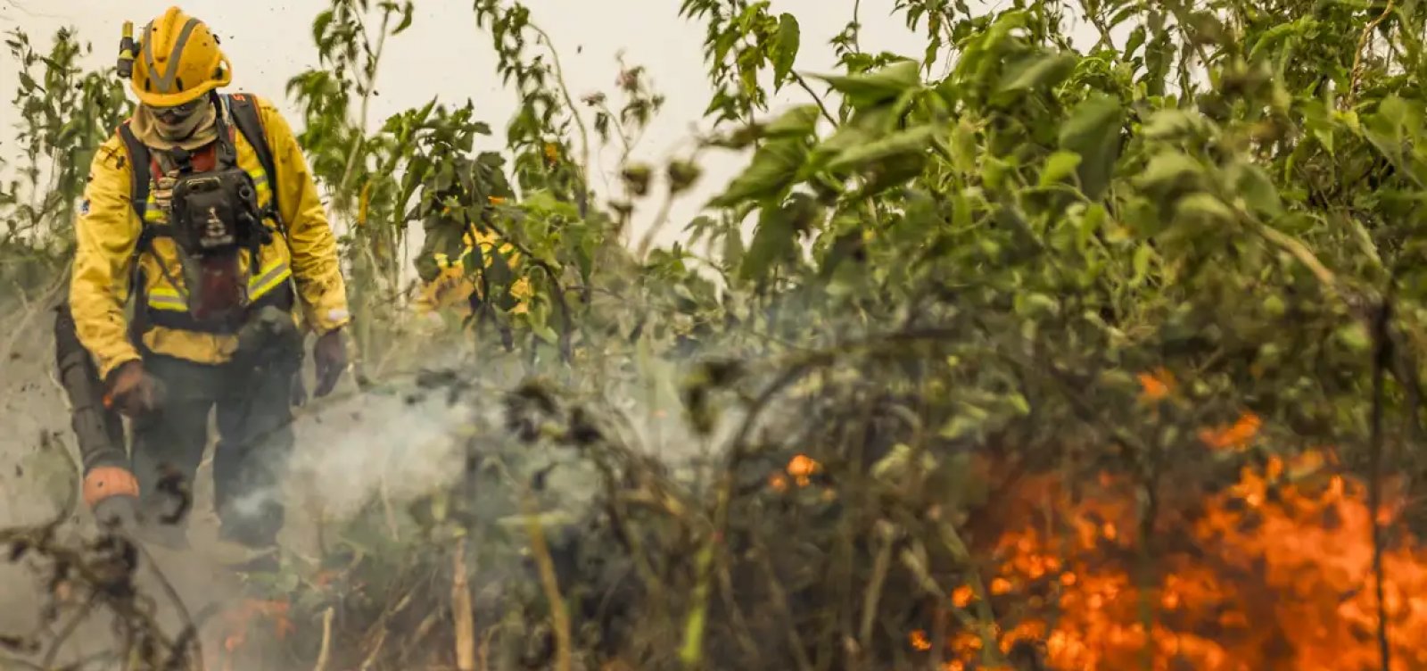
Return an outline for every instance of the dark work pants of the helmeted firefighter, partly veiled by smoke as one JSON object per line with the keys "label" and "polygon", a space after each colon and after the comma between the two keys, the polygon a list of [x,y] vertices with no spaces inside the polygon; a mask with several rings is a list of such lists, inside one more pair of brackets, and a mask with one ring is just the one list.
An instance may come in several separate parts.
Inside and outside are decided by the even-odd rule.
{"label": "dark work pants of the helmeted firefighter, partly veiled by smoke", "polygon": [[[180,498],[163,491],[160,481],[177,475],[191,485],[208,443],[208,411],[215,408],[213,493],[220,533],[244,545],[273,544],[283,528],[280,487],[294,443],[295,373],[157,354],[144,357],[144,368],[164,387],[161,407],[133,421],[130,444],[144,510],[171,518],[178,508]],[[178,525],[186,521],[187,515]]]}

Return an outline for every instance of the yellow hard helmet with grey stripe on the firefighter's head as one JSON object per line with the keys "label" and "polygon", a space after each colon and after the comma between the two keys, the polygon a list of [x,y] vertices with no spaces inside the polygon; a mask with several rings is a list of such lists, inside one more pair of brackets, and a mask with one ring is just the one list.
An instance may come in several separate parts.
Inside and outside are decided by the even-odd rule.
{"label": "yellow hard helmet with grey stripe on the firefighter's head", "polygon": [[233,81],[233,64],[208,26],[178,7],[144,26],[130,86],[150,107],[176,107]]}

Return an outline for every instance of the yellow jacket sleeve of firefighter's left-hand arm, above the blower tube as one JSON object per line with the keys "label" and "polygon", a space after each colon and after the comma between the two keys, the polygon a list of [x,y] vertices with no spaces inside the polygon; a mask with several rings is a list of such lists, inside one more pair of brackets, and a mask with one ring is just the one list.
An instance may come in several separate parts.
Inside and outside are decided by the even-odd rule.
{"label": "yellow jacket sleeve of firefighter's left-hand arm, above the blower tube", "polygon": [[138,243],[140,221],[128,203],[130,167],[117,137],[110,137],[90,163],[84,204],[74,221],[74,266],[70,311],[80,343],[98,374],[108,378],[118,364],[138,357],[128,341],[124,303],[128,300],[130,256]]}

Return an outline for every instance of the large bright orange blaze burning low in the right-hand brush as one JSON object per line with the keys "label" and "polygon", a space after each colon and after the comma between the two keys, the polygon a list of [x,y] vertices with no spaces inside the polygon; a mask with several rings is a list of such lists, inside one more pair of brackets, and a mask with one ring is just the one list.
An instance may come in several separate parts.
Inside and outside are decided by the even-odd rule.
{"label": "large bright orange blaze burning low in the right-hand brush", "polygon": [[[1142,377],[1146,398],[1172,393],[1160,380]],[[1199,437],[1207,450],[1237,451],[1260,427],[1244,413]],[[1003,654],[1036,642],[1059,671],[1381,668],[1373,511],[1366,485],[1337,473],[1331,453],[1246,465],[1234,484],[1193,505],[1163,505],[1149,538],[1137,495],[1133,483],[1110,475],[1075,498],[1057,475],[1025,478],[1003,494],[1025,510],[987,541],[990,562],[976,577],[996,617],[980,624],[993,627]],[[1039,507],[1049,501],[1056,504]],[[1391,525],[1398,508],[1384,505],[1378,523]],[[1390,537],[1383,604],[1391,670],[1427,668],[1427,547],[1401,528]],[[976,600],[970,585],[949,594],[972,620],[982,612]],[[996,668],[977,631],[948,631],[939,652],[930,638],[918,631],[910,647],[949,660],[943,671]]]}

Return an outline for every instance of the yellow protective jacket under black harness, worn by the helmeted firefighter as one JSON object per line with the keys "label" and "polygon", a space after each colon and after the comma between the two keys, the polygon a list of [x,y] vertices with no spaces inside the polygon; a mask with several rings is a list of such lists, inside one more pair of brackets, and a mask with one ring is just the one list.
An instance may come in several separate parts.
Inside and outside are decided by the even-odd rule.
{"label": "yellow protective jacket under black harness, worn by the helmeted firefighter", "polygon": [[[281,113],[265,99],[248,96],[257,106],[258,118],[273,154],[277,171],[280,216],[287,227],[284,237],[275,223],[273,241],[263,246],[257,271],[248,281],[248,296],[254,303],[264,294],[295,288],[294,323],[318,334],[342,327],[350,321],[347,290],[337,256],[337,240],[327,223],[327,213],[318,200],[317,184],[308,170],[291,127]],[[231,126],[231,124],[230,124]],[[238,166],[253,176],[258,206],[267,207],[273,188],[253,146],[235,133]],[[70,310],[80,341],[94,355],[98,373],[106,380],[117,365],[140,358],[138,347],[130,340],[126,304],[130,301],[131,260],[144,224],[166,224],[167,214],[150,197],[146,221],[138,220],[130,203],[131,161],[123,138],[116,131],[90,166],[90,181],[84,188],[84,206],[76,221],[77,251],[70,278]],[[151,240],[148,253],[138,256],[138,278],[143,283],[147,314],[186,314],[183,273],[171,237]],[[160,266],[161,257],[163,266]],[[248,254],[240,254],[240,270],[248,270]],[[168,268],[166,277],[164,268]],[[168,281],[173,277],[180,286]],[[143,334],[143,345],[156,353],[195,363],[218,364],[233,357],[237,336],[203,333],[178,327],[150,326]]]}

